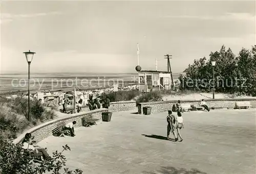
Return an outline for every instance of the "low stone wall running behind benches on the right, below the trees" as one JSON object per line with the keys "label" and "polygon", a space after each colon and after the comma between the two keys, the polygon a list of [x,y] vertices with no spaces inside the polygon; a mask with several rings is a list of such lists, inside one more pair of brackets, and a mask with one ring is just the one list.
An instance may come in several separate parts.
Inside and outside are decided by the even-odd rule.
{"label": "low stone wall running behind benches on the right, below the trees", "polygon": [[[229,108],[233,109],[236,102],[239,101],[249,101],[252,108],[256,108],[256,99],[254,98],[237,98],[237,99],[229,99],[229,98],[221,98],[221,99],[205,99],[204,100],[209,108]],[[195,105],[199,106],[201,101],[195,101],[195,100],[184,100],[181,101],[181,105],[189,104],[189,105]],[[138,103],[138,112],[139,114],[142,114],[142,108],[143,107],[151,107],[151,113],[155,112],[164,112],[168,110],[172,110],[172,107],[174,104],[176,104],[177,101],[162,101],[162,102],[146,102],[146,103]]]}

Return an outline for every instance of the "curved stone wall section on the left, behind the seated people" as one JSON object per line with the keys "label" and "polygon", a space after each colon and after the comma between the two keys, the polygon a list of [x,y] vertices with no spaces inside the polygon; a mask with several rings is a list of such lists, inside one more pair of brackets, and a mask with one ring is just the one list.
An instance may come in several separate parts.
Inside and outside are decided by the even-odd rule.
{"label": "curved stone wall section on the left, behind the seated people", "polygon": [[32,136],[35,136],[34,140],[36,142],[39,142],[49,136],[52,136],[52,130],[57,128],[57,125],[59,122],[64,121],[66,123],[76,121],[76,124],[74,125],[74,128],[78,128],[82,126],[81,118],[83,117],[92,117],[93,119],[99,119],[101,120],[101,113],[102,112],[108,112],[108,109],[102,108],[97,109],[93,111],[87,111],[87,112],[79,112],[75,114],[70,114],[69,116],[65,118],[60,119],[54,119],[45,123],[42,123],[41,125],[38,125],[28,131],[25,131],[22,135],[18,136],[13,142],[14,143],[20,143],[23,138],[25,137],[26,133],[31,133]]}

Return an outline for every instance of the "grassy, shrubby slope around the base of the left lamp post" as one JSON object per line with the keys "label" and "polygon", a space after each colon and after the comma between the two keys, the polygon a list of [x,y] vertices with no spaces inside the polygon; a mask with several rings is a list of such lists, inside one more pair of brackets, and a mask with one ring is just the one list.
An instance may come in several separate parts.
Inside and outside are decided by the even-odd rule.
{"label": "grassy, shrubby slope around the base of the left lamp post", "polygon": [[56,117],[53,108],[46,108],[39,102],[31,101],[31,121],[27,120],[28,99],[17,97],[14,100],[0,100],[0,129],[5,134],[18,135],[24,130]]}

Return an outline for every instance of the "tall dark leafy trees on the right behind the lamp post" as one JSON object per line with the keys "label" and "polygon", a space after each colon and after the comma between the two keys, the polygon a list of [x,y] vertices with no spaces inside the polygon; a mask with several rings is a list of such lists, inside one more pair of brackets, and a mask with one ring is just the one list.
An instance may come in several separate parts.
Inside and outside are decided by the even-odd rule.
{"label": "tall dark leafy trees on the right behind the lamp post", "polygon": [[[216,61],[215,84],[213,84],[213,67]],[[186,68],[186,76],[180,76],[180,89],[212,91],[213,85],[217,92],[256,95],[256,46],[251,50],[242,48],[236,57],[230,48],[223,45],[219,52],[211,52],[206,58],[194,60]]]}

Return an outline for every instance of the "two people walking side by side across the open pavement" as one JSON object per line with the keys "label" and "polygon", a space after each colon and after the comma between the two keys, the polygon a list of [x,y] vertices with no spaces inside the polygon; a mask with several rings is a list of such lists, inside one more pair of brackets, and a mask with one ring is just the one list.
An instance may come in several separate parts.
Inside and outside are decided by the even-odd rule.
{"label": "two people walking side by side across the open pavement", "polygon": [[[172,111],[168,111],[168,116],[167,118],[167,140],[169,140],[169,135],[170,135],[170,131],[172,131],[172,133],[174,134],[175,137],[175,141],[178,141],[178,138],[180,137],[180,141],[182,141],[182,137],[180,135],[180,131],[182,128],[184,128],[184,123],[183,123],[183,118],[182,115],[180,113],[180,111],[177,112],[178,117],[176,117],[175,115],[173,115]],[[176,136],[176,132],[175,130],[177,130],[178,135]]]}

